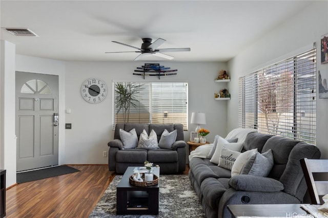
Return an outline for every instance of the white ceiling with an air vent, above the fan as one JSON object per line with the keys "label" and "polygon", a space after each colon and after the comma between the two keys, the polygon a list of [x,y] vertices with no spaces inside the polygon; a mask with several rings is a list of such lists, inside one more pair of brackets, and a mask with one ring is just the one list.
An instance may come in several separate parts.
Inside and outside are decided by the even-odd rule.
{"label": "white ceiling with an air vent, above the fan", "polygon": [[[0,1],[1,39],[16,53],[63,61],[132,61],[141,38],[163,38],[173,61],[228,61],[311,1]],[[39,37],[3,28],[29,28]],[[268,42],[271,43],[271,42]],[[150,60],[165,60],[152,58]]]}

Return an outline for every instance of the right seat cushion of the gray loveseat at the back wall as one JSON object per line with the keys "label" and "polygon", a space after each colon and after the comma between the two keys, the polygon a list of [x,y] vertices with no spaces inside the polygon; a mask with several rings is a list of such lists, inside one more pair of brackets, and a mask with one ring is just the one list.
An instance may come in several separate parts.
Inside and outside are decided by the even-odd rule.
{"label": "right seat cushion of the gray loveseat at the back wall", "polygon": [[148,151],[147,160],[152,163],[178,162],[178,153],[171,149],[156,149]]}

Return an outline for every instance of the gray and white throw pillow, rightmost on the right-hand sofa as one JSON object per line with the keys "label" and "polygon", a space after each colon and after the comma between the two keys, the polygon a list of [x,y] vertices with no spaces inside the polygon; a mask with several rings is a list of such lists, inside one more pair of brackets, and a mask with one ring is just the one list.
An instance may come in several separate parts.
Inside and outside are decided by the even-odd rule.
{"label": "gray and white throw pillow, rightmost on the right-hand sofa", "polygon": [[240,174],[267,177],[273,167],[273,154],[271,149],[260,154],[257,152],[245,162]]}

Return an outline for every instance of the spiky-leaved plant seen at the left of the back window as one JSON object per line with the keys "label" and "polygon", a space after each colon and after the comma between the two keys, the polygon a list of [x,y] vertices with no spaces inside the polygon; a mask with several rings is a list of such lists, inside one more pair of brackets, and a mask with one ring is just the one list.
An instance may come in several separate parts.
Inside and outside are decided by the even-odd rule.
{"label": "spiky-leaved plant seen at the left of the back window", "polygon": [[139,102],[137,94],[144,89],[144,84],[115,83],[115,110],[123,116],[124,123],[129,123],[130,108],[136,108]]}

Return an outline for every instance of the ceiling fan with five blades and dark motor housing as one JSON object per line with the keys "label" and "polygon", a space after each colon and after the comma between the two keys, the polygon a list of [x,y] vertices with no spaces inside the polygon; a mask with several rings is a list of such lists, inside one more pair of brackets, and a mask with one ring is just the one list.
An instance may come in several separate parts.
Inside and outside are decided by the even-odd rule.
{"label": "ceiling fan with five blades and dark motor housing", "polygon": [[[174,58],[173,56],[163,54],[162,52],[190,52],[190,47],[176,48],[176,49],[157,49],[157,47],[159,45],[161,45],[162,43],[164,43],[165,41],[166,41],[165,39],[158,38],[156,41],[154,41],[152,43],[151,38],[142,38],[142,42],[144,42],[144,43],[141,44],[140,49],[138,47],[128,45],[125,43],[121,43],[121,42],[117,42],[117,41],[112,41],[112,42],[115,42],[115,43],[121,44],[121,45],[125,45],[125,46],[129,46],[129,47],[132,47],[133,49],[139,50],[139,51],[135,51],[135,52],[141,53],[134,59],[135,61],[139,60],[143,56],[149,56],[149,55],[154,55],[157,57],[172,60]],[[105,53],[124,53],[124,52],[105,52]]]}

